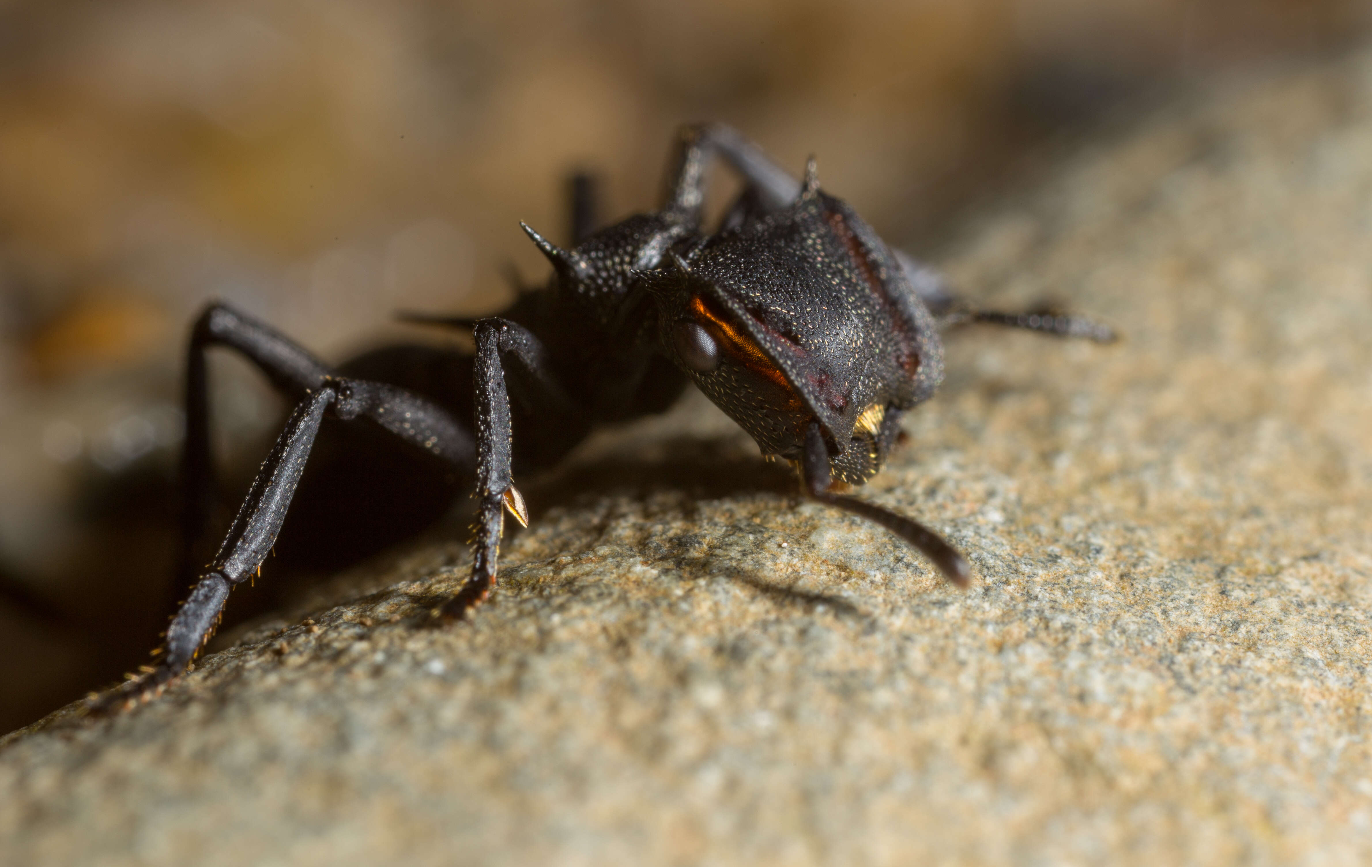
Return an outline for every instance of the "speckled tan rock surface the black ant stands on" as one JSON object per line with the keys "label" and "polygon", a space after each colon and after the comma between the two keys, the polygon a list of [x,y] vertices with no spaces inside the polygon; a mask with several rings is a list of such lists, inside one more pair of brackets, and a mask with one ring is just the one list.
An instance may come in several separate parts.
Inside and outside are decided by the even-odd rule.
{"label": "speckled tan rock surface the black ant stands on", "polygon": [[145,708],[11,737],[0,860],[1365,863],[1369,155],[1364,55],[1152,117],[965,233],[960,285],[1128,333],[949,339],[867,495],[971,591],[697,399],[531,484],[468,624],[421,626],[440,538]]}

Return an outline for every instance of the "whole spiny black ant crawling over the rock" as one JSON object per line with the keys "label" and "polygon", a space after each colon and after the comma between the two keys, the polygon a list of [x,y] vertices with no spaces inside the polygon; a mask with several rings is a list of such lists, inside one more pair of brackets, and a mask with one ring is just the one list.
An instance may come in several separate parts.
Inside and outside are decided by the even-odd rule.
{"label": "whole spiny black ant crawling over the rock", "polygon": [[[716,156],[745,188],[707,233],[701,204]],[[575,185],[571,250],[524,226],[552,262],[552,280],[502,316],[428,320],[471,328],[476,343],[475,357],[445,354],[449,376],[438,388],[432,376],[403,370],[387,381],[347,376],[347,365],[335,370],[262,322],[211,305],[192,331],[187,368],[184,550],[203,534],[213,488],[206,350],[243,354],[295,410],[218,553],[196,569],[156,665],[93,706],[150,697],[187,669],[229,590],[272,550],[325,416],[376,425],[475,482],[472,572],[442,617],[462,616],[494,589],[504,513],[528,521],[513,468],[550,466],[597,424],[663,412],[687,383],[764,455],[793,462],[805,494],[881,524],[966,586],[967,561],[938,534],[838,492],[836,482],[862,484],[881,469],[901,416],[933,395],[944,373],[940,326],[993,322],[1102,342],[1113,332],[1080,317],[959,305],[933,272],[822,192],[814,161],[799,182],[729,126],[685,128],[668,180],[661,209],[600,230],[587,187]]]}

